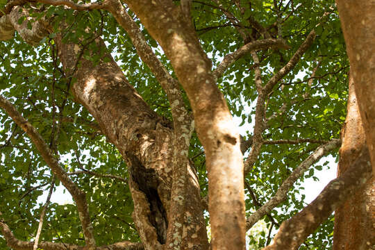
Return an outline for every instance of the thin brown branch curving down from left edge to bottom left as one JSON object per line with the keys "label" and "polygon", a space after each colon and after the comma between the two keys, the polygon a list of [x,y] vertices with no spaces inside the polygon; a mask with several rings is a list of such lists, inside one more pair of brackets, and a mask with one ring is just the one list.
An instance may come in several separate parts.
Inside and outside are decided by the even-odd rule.
{"label": "thin brown branch curving down from left edge to bottom left", "polygon": [[7,99],[0,95],[0,108],[6,110],[6,113],[12,117],[13,121],[21,127],[26,134],[31,138],[35,147],[38,149],[47,165],[51,168],[53,174],[55,174],[63,183],[65,188],[72,194],[74,201],[76,202],[79,219],[81,220],[83,234],[85,235],[86,244],[90,247],[94,247],[94,233],[92,224],[90,222],[90,214],[88,213],[88,204],[86,202],[86,195],[82,192],[66,174],[64,169],[59,165],[58,160],[53,156],[51,150],[47,147],[42,136],[36,131],[36,129],[29,122],[18,113],[15,106],[10,103]]}

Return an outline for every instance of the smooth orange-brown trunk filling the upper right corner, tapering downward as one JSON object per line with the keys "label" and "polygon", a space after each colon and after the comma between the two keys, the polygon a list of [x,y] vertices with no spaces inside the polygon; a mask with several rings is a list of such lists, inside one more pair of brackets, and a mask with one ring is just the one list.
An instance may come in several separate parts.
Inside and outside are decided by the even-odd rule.
{"label": "smooth orange-brown trunk filling the upper right corner, tapering downward", "polygon": [[375,1],[336,0],[375,173]]}

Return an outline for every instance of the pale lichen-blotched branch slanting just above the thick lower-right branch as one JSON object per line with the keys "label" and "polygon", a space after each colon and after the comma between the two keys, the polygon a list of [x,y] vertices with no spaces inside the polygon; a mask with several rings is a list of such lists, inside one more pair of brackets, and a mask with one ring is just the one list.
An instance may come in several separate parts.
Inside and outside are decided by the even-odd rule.
{"label": "pale lichen-blotched branch slanting just above the thick lower-right branch", "polygon": [[292,187],[295,181],[297,181],[298,178],[300,178],[306,170],[317,162],[320,158],[326,155],[329,151],[332,149],[335,149],[339,147],[341,144],[340,139],[334,139],[330,142],[318,147],[314,153],[312,153],[306,160],[303,160],[303,162],[288,176],[288,178],[283,181],[280,188],[278,188],[276,194],[274,197],[269,199],[267,203],[265,203],[261,208],[256,210],[256,213],[253,213],[253,215],[250,215],[250,217],[247,218],[247,225],[246,228],[249,230],[253,224],[258,222],[260,218],[265,216],[267,213],[271,212],[272,209],[274,209],[279,203],[284,201],[287,197],[288,191]]}

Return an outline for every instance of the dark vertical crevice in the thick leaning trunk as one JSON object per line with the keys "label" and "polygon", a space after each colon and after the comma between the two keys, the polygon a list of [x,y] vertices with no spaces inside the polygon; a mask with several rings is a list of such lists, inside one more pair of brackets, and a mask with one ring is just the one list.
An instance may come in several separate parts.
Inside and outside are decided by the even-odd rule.
{"label": "dark vertical crevice in the thick leaning trunk", "polygon": [[141,192],[146,194],[147,200],[149,201],[149,206],[151,214],[149,215],[149,221],[156,228],[158,233],[158,242],[160,244],[165,244],[167,238],[167,213],[160,200],[158,194],[158,176],[154,169],[145,168],[140,160],[131,153],[126,153],[128,159],[131,161],[130,173],[138,184],[138,188]]}

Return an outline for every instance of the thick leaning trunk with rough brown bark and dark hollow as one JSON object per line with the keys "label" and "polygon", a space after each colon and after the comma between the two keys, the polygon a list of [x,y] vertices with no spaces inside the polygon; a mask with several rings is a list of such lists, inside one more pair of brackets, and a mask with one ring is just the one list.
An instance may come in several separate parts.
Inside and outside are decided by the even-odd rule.
{"label": "thick leaning trunk with rough brown bark and dark hollow", "polygon": [[[56,39],[65,72],[76,64],[79,47]],[[97,41],[99,49],[106,50]],[[94,51],[93,53],[97,53]],[[103,60],[107,58],[108,63]],[[158,117],[126,80],[122,70],[106,51],[97,66],[88,60],[74,75],[74,97],[94,116],[103,133],[122,153],[131,172],[129,186],[135,209],[133,217],[145,249],[161,249],[165,243],[172,188],[173,130]],[[189,166],[190,167],[190,166]],[[190,168],[186,199],[189,217],[186,231],[194,231],[191,249],[207,249],[206,226],[200,206],[199,185]],[[192,216],[194,215],[194,216]],[[192,235],[190,233],[190,235]]]}

